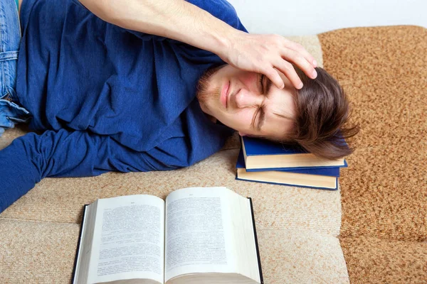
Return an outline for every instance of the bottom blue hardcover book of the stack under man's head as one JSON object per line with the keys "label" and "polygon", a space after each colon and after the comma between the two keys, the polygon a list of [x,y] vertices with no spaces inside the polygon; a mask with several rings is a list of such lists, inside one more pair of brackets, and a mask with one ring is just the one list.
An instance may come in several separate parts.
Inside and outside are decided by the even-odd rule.
{"label": "bottom blue hardcover book of the stack under man's head", "polygon": [[[338,167],[305,170],[266,170],[248,172],[245,168],[243,151],[241,151],[236,163],[236,169],[236,180],[265,182],[296,187],[310,187],[320,190],[337,190],[338,188]],[[319,175],[319,173],[326,173],[326,175]]]}

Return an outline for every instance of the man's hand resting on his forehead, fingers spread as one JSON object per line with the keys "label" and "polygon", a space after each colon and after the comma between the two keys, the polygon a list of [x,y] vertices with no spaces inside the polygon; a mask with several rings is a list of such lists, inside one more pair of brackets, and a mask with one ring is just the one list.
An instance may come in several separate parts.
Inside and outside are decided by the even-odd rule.
{"label": "man's hand resting on his forehead, fingers spread", "polygon": [[[317,63],[315,58],[299,43],[275,34],[251,34],[235,30],[229,37],[229,44],[218,56],[241,70],[262,73],[278,88],[285,84],[277,70],[283,72],[295,88],[302,88],[302,81],[291,63],[297,65],[305,74],[315,79]],[[277,70],[275,70],[276,68]]]}

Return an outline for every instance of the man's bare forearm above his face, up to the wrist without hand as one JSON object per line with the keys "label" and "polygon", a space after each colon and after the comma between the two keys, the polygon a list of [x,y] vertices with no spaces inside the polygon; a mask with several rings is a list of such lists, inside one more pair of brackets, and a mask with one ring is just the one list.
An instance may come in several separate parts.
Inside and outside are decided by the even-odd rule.
{"label": "man's bare forearm above his face, up to the wrist without hand", "polygon": [[184,0],[79,0],[109,23],[221,53],[237,30]]}

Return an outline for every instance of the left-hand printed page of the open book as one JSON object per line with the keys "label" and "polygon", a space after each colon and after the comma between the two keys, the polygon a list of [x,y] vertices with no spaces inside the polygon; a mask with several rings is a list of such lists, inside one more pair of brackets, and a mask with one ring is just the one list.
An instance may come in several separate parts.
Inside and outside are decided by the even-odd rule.
{"label": "left-hand printed page of the open book", "polygon": [[88,283],[164,283],[164,201],[152,195],[99,200],[92,247]]}

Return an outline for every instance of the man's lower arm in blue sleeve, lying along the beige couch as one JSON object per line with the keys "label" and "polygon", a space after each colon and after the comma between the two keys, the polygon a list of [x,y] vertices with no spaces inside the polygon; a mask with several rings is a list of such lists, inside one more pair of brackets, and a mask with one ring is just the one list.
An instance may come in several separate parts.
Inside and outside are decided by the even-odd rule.
{"label": "man's lower arm in blue sleeve, lying along the beige couch", "polygon": [[186,152],[176,152],[177,155],[161,149],[137,152],[110,136],[86,131],[26,133],[0,151],[0,213],[43,178],[78,178],[109,171],[147,172],[186,166]]}

